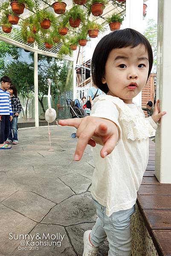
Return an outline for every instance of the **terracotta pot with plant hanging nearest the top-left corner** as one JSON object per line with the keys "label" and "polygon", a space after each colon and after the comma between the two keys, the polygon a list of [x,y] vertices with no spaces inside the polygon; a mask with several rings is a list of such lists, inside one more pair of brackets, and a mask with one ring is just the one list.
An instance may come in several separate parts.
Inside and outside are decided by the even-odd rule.
{"label": "terracotta pot with plant hanging nearest the top-left corner", "polygon": [[10,2],[12,11],[18,15],[24,12],[25,7],[32,10],[35,5],[32,0],[10,0]]}

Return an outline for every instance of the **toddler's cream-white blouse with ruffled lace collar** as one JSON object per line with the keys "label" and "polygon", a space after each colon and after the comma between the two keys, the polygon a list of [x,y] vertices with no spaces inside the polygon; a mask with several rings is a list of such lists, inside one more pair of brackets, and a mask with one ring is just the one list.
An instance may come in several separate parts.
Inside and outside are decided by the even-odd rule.
{"label": "toddler's cream-white blouse with ruffled lace collar", "polygon": [[148,138],[154,135],[156,123],[145,118],[141,107],[125,104],[118,97],[100,95],[91,116],[109,119],[119,128],[119,141],[110,155],[100,157],[101,145],[93,148],[95,171],[92,196],[106,207],[106,214],[130,209],[148,163]]}

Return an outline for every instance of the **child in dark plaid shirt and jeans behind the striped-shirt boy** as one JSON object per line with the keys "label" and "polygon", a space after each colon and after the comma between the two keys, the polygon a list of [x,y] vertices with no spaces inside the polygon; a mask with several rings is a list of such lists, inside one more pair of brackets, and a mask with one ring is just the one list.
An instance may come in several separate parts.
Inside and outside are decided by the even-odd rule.
{"label": "child in dark plaid shirt and jeans behind the striped-shirt boy", "polygon": [[[18,143],[18,137],[17,137],[17,119],[19,116],[19,113],[22,110],[22,106],[20,103],[20,100],[17,97],[17,89],[14,85],[10,85],[8,89],[10,93],[10,98],[11,98],[11,106],[12,106],[12,122],[9,124],[9,136],[8,139],[6,140],[7,144],[17,144]],[[12,136],[13,132],[13,136]]]}

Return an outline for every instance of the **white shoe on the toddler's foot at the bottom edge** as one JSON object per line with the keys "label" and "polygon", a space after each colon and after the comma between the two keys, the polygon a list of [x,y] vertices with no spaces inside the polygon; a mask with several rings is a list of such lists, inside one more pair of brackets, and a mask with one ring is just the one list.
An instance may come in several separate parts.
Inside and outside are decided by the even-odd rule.
{"label": "white shoe on the toddler's foot at the bottom edge", "polygon": [[84,233],[84,252],[83,256],[97,256],[99,247],[93,246],[89,241],[89,235],[91,230],[87,230]]}

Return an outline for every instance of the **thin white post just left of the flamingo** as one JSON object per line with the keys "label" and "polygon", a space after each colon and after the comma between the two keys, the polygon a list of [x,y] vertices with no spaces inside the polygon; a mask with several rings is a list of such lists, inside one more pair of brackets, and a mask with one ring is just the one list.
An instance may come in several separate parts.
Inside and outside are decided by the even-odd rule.
{"label": "thin white post just left of the flamingo", "polygon": [[35,127],[39,127],[39,116],[38,116],[38,52],[34,53],[34,85],[35,85]]}

